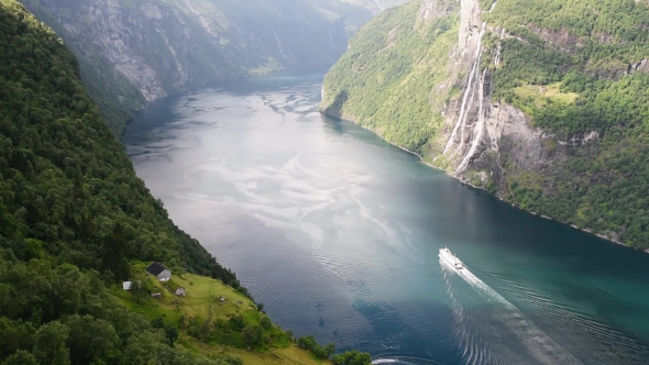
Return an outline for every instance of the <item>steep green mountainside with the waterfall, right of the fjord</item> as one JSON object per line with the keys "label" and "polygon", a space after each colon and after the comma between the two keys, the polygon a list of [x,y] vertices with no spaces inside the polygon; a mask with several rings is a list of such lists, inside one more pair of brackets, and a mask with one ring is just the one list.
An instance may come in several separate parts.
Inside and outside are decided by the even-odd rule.
{"label": "steep green mountainside with the waterfall, right of the fjord", "polygon": [[536,214],[649,247],[649,3],[415,0],[351,40],[321,110]]}

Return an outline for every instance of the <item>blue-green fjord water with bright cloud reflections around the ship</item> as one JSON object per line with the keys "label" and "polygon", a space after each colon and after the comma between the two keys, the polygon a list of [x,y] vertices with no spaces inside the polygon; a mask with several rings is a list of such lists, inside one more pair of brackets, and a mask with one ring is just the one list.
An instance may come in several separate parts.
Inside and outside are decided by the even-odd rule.
{"label": "blue-green fjord water with bright cloud reflections around the ship", "polygon": [[[276,323],[375,363],[649,364],[649,255],[320,115],[321,80],[168,97],[123,136],[170,218]],[[440,263],[444,246],[465,270]]]}

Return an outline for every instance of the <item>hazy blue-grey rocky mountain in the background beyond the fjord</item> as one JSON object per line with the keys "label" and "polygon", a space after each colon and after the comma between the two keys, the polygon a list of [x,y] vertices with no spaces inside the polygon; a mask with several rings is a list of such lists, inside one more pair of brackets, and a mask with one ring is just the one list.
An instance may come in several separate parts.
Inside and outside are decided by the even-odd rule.
{"label": "hazy blue-grey rocky mountain in the background beyond the fjord", "polygon": [[23,0],[80,60],[120,134],[143,102],[212,81],[329,67],[372,18],[339,0]]}

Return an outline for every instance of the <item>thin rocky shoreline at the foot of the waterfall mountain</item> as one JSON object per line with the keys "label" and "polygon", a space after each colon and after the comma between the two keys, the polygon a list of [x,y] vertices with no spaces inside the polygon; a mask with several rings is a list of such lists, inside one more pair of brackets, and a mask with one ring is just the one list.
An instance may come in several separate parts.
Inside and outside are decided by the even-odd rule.
{"label": "thin rocky shoreline at the foot of the waterfall mountain", "polygon": [[559,221],[559,220],[557,220],[557,219],[553,219],[553,218],[551,218],[551,217],[548,217],[548,215],[542,215],[542,214],[538,214],[538,213],[536,213],[536,212],[532,212],[532,211],[525,210],[525,209],[522,209],[522,208],[520,208],[520,207],[518,207],[518,206],[516,206],[516,204],[514,204],[514,203],[512,203],[512,202],[509,202],[509,201],[507,201],[507,200],[505,200],[505,199],[503,199],[503,198],[498,197],[497,195],[490,193],[487,190],[485,190],[485,189],[483,189],[483,188],[481,188],[481,187],[477,187],[477,186],[475,186],[475,185],[473,185],[473,184],[471,184],[471,182],[469,182],[469,181],[466,181],[466,180],[464,180],[464,179],[462,179],[462,178],[460,178],[460,177],[455,176],[454,174],[450,174],[449,172],[447,172],[447,170],[444,170],[444,169],[441,169],[441,168],[439,168],[439,167],[437,167],[437,166],[433,166],[433,165],[429,164],[429,163],[428,163],[428,162],[426,162],[426,161],[424,159],[424,157],[422,157],[421,155],[419,155],[418,153],[416,153],[416,152],[413,152],[413,151],[410,151],[410,150],[408,150],[408,148],[405,148],[405,147],[403,147],[403,146],[399,146],[398,144],[396,144],[396,143],[393,143],[393,142],[391,142],[391,141],[387,141],[387,140],[386,140],[386,139],[385,139],[383,135],[378,134],[376,131],[374,131],[374,130],[373,130],[373,129],[371,129],[371,128],[367,128],[367,126],[361,125],[360,123],[358,123],[356,121],[354,121],[354,120],[352,120],[352,119],[348,119],[348,118],[343,118],[343,117],[337,117],[337,115],[327,114],[327,113],[326,113],[323,110],[321,110],[321,109],[320,109],[320,107],[318,107],[318,112],[319,112],[320,114],[322,114],[322,115],[326,115],[326,117],[328,117],[328,118],[337,119],[337,120],[339,120],[339,121],[348,121],[348,122],[350,122],[350,123],[354,123],[355,125],[359,125],[360,128],[362,128],[362,129],[364,129],[364,130],[371,131],[372,133],[374,133],[374,134],[376,134],[377,136],[380,136],[380,137],[381,137],[383,141],[387,142],[388,144],[391,144],[391,145],[393,145],[393,146],[395,146],[395,147],[397,147],[397,148],[399,148],[399,150],[402,150],[402,151],[405,151],[405,152],[407,152],[407,153],[409,153],[409,154],[411,154],[411,155],[415,155],[415,156],[419,157],[419,162],[421,162],[422,164],[427,165],[428,167],[431,167],[431,168],[438,169],[438,170],[440,170],[440,172],[443,172],[446,175],[448,175],[448,176],[450,176],[450,177],[454,178],[455,180],[460,181],[460,184],[462,184],[462,185],[466,185],[466,186],[470,186],[471,188],[474,188],[474,189],[476,189],[476,190],[484,191],[484,192],[488,193],[490,196],[492,196],[492,197],[494,197],[494,198],[496,198],[496,199],[501,200],[502,202],[504,202],[504,203],[506,203],[506,204],[509,204],[509,206],[512,206],[513,208],[515,208],[515,209],[517,209],[517,210],[519,210],[519,211],[521,211],[521,212],[525,212],[525,213],[528,213],[528,214],[532,214],[532,215],[536,215],[536,217],[540,217],[540,218],[542,218],[542,219],[547,219],[547,220],[549,220],[549,221],[553,221],[553,222],[557,222],[557,223],[559,223],[559,224],[562,224],[562,225],[565,225],[565,226],[570,226],[570,228],[572,228],[572,229],[575,229],[575,230],[578,230],[578,231],[582,231],[582,232],[584,232],[584,233],[587,233],[587,234],[590,234],[590,235],[594,235],[594,236],[596,236],[596,237],[598,237],[598,239],[602,239],[602,240],[608,241],[608,242],[610,242],[610,243],[615,243],[615,244],[617,244],[617,245],[619,245],[619,246],[623,246],[623,247],[626,247],[626,248],[629,248],[629,250],[634,250],[634,251],[637,251],[637,252],[642,252],[642,253],[649,253],[649,248],[647,248],[647,250],[640,250],[640,248],[634,248],[634,247],[629,247],[629,246],[627,246],[626,244],[624,244],[623,242],[619,242],[619,241],[617,241],[617,240],[614,240],[614,239],[609,239],[609,237],[607,237],[607,236],[605,236],[605,235],[603,235],[603,234],[600,234],[600,233],[593,233],[593,232],[591,232],[591,231],[590,231],[590,230],[587,230],[587,229],[582,229],[582,228],[579,228],[579,226],[576,226],[576,225],[574,225],[574,224],[565,223],[565,222]]}

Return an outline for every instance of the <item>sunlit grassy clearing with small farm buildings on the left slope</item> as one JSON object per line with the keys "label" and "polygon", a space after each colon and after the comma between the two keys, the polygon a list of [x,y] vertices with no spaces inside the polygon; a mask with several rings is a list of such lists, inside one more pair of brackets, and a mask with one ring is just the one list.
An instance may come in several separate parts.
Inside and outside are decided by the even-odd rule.
{"label": "sunlit grassy clearing with small farm buildings on the left slope", "polygon": [[[244,364],[331,364],[297,347],[251,299],[220,280],[174,273],[169,281],[160,283],[145,274],[145,267],[144,263],[135,263],[132,279],[142,281],[145,290],[138,295],[113,287],[111,294],[134,312],[152,320],[162,317],[165,323],[179,327],[176,345],[215,358],[237,356]],[[185,288],[185,297],[173,292],[179,287]],[[150,291],[160,292],[161,297],[152,298]],[[253,350],[249,350],[245,343],[243,332],[246,327],[260,329],[261,340]],[[208,330],[201,332],[204,328]]]}

